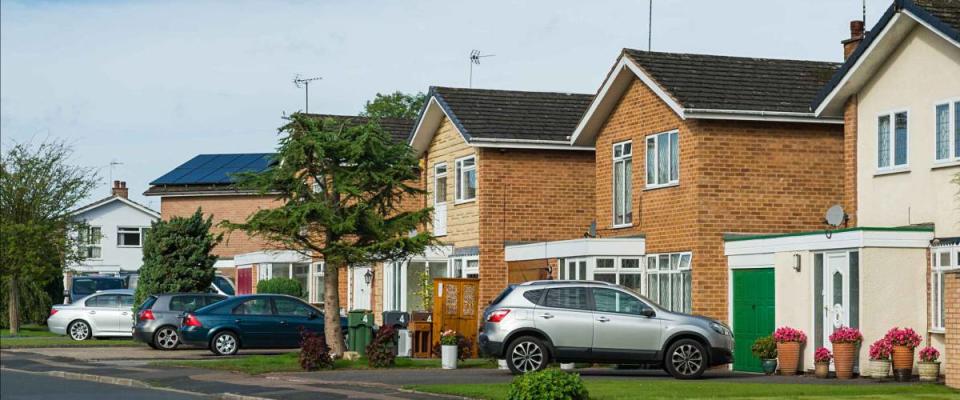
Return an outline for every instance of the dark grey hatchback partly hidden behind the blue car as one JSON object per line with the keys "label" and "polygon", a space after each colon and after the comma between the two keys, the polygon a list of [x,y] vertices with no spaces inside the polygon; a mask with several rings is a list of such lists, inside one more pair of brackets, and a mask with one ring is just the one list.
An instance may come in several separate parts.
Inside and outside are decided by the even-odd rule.
{"label": "dark grey hatchback partly hidden behind the blue car", "polygon": [[184,313],[226,298],[215,293],[173,293],[147,297],[137,311],[133,338],[155,349],[173,350],[180,345],[180,318]]}

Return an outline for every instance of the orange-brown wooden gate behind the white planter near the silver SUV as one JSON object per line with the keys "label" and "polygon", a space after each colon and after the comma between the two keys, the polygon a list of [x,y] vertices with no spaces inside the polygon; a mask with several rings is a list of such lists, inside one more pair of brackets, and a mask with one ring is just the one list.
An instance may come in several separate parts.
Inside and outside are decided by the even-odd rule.
{"label": "orange-brown wooden gate behind the white planter near the silver SUV", "polygon": [[433,280],[433,293],[433,345],[440,343],[440,332],[452,329],[470,341],[470,356],[476,357],[480,280],[437,278]]}

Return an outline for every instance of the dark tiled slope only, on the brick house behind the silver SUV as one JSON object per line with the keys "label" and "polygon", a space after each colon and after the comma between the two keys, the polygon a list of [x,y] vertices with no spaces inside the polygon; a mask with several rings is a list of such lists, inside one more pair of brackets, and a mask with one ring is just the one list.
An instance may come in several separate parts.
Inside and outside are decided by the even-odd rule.
{"label": "dark tiled slope only, on the brick house behind the silver SUV", "polygon": [[809,113],[838,63],[624,49],[684,108]]}

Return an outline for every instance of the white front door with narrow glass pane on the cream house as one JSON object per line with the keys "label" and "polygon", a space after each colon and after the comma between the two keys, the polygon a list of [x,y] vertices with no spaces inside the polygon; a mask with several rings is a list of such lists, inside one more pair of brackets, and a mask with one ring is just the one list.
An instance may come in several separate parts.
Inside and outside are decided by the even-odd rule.
{"label": "white front door with narrow glass pane on the cream house", "polygon": [[850,326],[850,261],[847,252],[827,253],[823,269],[823,346],[833,350],[830,335]]}

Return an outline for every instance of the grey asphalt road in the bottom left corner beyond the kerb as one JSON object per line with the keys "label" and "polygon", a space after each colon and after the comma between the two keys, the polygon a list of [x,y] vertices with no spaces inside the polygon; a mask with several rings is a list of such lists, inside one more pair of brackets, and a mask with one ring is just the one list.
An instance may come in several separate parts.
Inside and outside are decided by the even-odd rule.
{"label": "grey asphalt road in the bottom left corner beyond the kerb", "polygon": [[8,370],[0,372],[0,397],[3,400],[193,400],[202,398],[166,390],[140,389]]}

